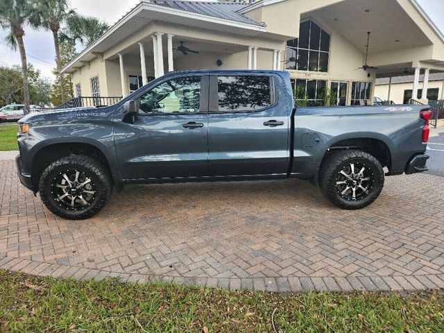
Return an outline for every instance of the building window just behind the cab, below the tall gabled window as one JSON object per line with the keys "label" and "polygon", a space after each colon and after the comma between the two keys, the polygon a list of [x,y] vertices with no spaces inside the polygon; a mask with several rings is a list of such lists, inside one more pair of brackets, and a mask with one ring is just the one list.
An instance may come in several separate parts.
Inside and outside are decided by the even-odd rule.
{"label": "building window just behind the cab, below the tall gabled window", "polygon": [[316,106],[324,104],[325,88],[327,81],[325,80],[291,80],[294,98],[296,104],[307,106]]}

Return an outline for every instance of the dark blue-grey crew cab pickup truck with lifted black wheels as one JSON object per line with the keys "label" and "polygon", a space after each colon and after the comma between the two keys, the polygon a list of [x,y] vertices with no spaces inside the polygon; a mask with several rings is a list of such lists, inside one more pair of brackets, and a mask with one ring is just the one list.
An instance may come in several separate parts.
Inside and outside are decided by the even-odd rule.
{"label": "dark blue-grey crew cab pickup truck with lifted black wheels", "polygon": [[424,105],[295,108],[284,71],[183,71],[119,103],[19,121],[17,170],[66,219],[129,183],[304,178],[360,209],[384,176],[426,171]]}

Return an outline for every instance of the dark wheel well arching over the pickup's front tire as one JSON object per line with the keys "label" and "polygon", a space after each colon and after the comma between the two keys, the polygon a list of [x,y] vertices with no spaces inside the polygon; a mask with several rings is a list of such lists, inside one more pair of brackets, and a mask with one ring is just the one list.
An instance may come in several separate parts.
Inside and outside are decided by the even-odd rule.
{"label": "dark wheel well arching over the pickup's front tire", "polygon": [[103,164],[103,166],[105,166],[105,168],[108,170],[108,173],[110,173],[110,176],[112,175],[110,164],[99,148],[90,144],[51,144],[49,146],[43,147],[42,149],[40,149],[40,151],[37,151],[33,158],[32,179],[34,188],[38,189],[40,176],[42,176],[42,173],[44,169],[46,169],[46,167],[62,157],[71,155],[85,155],[94,157],[99,160]]}

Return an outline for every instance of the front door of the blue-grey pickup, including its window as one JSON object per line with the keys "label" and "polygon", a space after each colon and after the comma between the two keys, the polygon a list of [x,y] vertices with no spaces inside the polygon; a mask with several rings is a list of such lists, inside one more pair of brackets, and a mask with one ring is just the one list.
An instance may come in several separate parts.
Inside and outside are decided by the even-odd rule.
{"label": "front door of the blue-grey pickup, including its window", "polygon": [[127,180],[208,176],[208,76],[186,75],[135,92],[134,123],[114,117],[114,142]]}

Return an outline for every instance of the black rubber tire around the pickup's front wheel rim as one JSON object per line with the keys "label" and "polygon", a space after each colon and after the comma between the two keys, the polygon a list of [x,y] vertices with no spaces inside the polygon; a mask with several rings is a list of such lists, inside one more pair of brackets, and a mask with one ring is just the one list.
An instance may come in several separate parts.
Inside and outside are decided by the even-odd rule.
{"label": "black rubber tire around the pickup's front wheel rim", "polygon": [[[68,170],[78,170],[94,182],[94,198],[81,210],[71,210],[60,205],[53,194],[56,177]],[[47,167],[40,177],[40,198],[53,214],[69,220],[83,220],[94,216],[105,206],[112,194],[112,180],[108,170],[93,157],[72,155],[62,157]]]}

